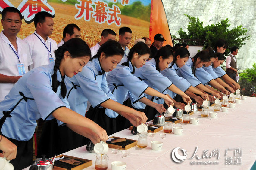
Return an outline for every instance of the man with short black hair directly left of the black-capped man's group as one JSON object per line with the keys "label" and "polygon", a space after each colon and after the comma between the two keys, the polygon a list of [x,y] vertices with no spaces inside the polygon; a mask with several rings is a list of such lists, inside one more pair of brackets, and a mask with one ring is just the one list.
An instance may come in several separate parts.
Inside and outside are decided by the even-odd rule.
{"label": "man with short black hair directly left of the black-capped man's group", "polygon": [[128,27],[122,27],[119,29],[119,43],[124,50],[124,56],[128,56],[129,48],[127,47],[132,39],[132,30]]}

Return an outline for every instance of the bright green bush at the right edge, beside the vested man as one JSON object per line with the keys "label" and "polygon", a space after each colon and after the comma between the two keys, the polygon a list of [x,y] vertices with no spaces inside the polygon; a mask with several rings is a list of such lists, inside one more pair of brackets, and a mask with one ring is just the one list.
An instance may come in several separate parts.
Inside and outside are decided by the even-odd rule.
{"label": "bright green bush at the right edge, beside the vested man", "polygon": [[256,86],[256,63],[253,62],[252,68],[247,68],[242,73],[239,74],[239,84],[241,87],[241,94],[245,96],[250,96],[250,89]]}

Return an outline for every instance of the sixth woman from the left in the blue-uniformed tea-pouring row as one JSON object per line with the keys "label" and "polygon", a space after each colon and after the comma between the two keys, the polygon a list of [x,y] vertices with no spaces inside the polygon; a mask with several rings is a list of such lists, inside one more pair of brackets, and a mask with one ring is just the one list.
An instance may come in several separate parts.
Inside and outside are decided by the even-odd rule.
{"label": "sixth woman from the left in the blue-uniformed tea-pouring row", "polygon": [[[181,68],[177,70],[177,75],[185,78],[193,87],[196,87],[200,91],[211,93],[213,96],[220,98],[220,94],[214,92],[211,89],[205,87],[195,76],[196,68],[202,67],[210,61],[210,55],[208,51],[200,51],[193,58],[189,57],[188,61]],[[209,96],[210,99],[210,96]],[[212,100],[212,98],[210,99]]]}

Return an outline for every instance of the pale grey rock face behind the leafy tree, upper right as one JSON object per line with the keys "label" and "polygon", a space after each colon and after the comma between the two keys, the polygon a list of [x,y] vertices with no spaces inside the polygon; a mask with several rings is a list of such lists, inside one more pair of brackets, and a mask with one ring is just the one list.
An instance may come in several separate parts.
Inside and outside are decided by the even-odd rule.
{"label": "pale grey rock face behind the leafy tree, upper right", "polygon": [[250,40],[239,49],[238,67],[240,70],[252,67],[256,62],[256,1],[240,0],[163,0],[167,20],[172,35],[178,36],[180,28],[187,31],[189,20],[184,14],[199,17],[204,26],[214,24],[226,18],[231,24],[229,29],[242,25],[248,30]]}

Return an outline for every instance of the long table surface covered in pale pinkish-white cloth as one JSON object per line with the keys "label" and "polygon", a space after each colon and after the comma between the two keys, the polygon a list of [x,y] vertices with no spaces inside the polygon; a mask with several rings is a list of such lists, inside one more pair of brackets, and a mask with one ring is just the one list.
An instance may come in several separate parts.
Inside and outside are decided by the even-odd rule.
{"label": "long table surface covered in pale pinkish-white cloth", "polygon": [[[154,138],[148,137],[148,147],[132,147],[128,157],[122,157],[121,150],[117,155],[108,150],[108,169],[111,162],[124,161],[126,170],[156,170],[156,169],[250,169],[256,159],[256,98],[247,97],[228,112],[218,111],[217,118],[201,117],[201,112],[191,117],[200,118],[198,125],[185,124],[182,135],[167,134],[161,139],[157,132]],[[213,107],[209,108],[213,111]],[[128,129],[111,136],[138,140]],[[150,141],[163,141],[162,150],[151,150]],[[177,148],[180,147],[180,148]],[[176,149],[175,149],[176,148]],[[175,150],[174,150],[175,149]],[[171,158],[172,152],[178,150],[184,156],[184,162],[176,163]],[[196,153],[195,153],[196,151]],[[214,151],[214,152],[213,152]],[[211,154],[212,153],[212,154]],[[93,161],[86,169],[95,169],[96,154],[86,151],[86,146],[76,148],[65,155],[75,156]],[[193,157],[194,156],[194,157]]]}

